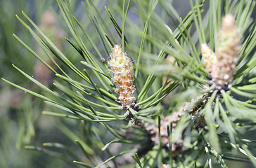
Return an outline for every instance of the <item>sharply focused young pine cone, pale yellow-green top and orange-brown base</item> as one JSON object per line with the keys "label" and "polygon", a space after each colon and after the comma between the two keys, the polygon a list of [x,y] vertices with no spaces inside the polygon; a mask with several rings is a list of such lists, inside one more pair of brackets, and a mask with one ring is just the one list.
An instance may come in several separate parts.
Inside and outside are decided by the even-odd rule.
{"label": "sharply focused young pine cone, pale yellow-green top and orange-brown base", "polygon": [[134,106],[134,79],[132,78],[132,64],[129,61],[126,53],[122,52],[120,45],[115,45],[108,66],[109,71],[113,73],[113,84],[116,86],[115,92],[119,94],[119,100],[122,104],[122,109],[128,110]]}

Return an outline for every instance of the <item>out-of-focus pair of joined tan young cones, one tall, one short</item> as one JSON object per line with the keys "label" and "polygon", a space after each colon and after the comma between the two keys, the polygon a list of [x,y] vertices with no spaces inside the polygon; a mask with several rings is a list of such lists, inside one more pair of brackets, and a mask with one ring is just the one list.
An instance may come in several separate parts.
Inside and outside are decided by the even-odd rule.
{"label": "out-of-focus pair of joined tan young cones, one tall, one short", "polygon": [[235,26],[233,15],[225,15],[222,28],[218,33],[218,45],[215,53],[206,44],[201,45],[204,65],[210,72],[216,85],[226,85],[233,80],[236,72],[237,55],[241,49],[241,31]]}

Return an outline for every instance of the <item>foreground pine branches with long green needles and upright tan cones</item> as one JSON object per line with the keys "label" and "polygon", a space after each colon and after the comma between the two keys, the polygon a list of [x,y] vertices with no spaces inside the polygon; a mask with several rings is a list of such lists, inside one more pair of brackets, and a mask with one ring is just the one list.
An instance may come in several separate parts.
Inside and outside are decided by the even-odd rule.
{"label": "foreground pine branches with long green needles and upright tan cones", "polygon": [[57,2],[72,52],[24,12],[17,18],[44,57],[14,35],[56,74],[54,87],[15,65],[41,91],[4,80],[60,109],[42,113],[60,118],[56,127],[83,154],[51,142],[25,148],[84,167],[256,167],[255,140],[246,135],[256,122],[255,1],[191,0],[180,18],[167,0],[109,1],[105,11],[86,0],[93,33],[69,1]]}

